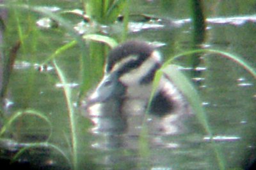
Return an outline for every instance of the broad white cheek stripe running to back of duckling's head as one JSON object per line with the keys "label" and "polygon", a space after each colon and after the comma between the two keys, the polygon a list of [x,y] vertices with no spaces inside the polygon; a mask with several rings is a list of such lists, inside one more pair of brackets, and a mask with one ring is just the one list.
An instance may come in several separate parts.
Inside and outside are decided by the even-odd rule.
{"label": "broad white cheek stripe running to back of duckling's head", "polygon": [[120,81],[125,85],[138,85],[143,76],[148,74],[148,71],[154,66],[156,63],[161,62],[161,55],[159,52],[153,52],[147,60],[141,64],[137,69],[133,69],[129,73],[125,73],[120,77]]}

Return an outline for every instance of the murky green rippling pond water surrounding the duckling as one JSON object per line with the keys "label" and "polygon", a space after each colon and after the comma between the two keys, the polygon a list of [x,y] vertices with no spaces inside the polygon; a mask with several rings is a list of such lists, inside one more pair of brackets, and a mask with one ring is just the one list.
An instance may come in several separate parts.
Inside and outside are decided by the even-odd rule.
{"label": "murky green rippling pond water surrounding the duckling", "polygon": [[[31,3],[54,6],[60,10],[82,8],[79,2],[65,0]],[[143,15],[138,15],[139,18],[131,17],[128,39],[156,43],[165,59],[193,48],[192,23],[188,19],[190,9],[187,1],[166,3],[141,0],[131,3],[131,13],[158,19],[141,21]],[[212,1],[205,2],[204,5],[207,29],[205,41],[200,46],[234,53],[255,67],[256,16],[253,15],[253,6],[256,3]],[[36,22],[38,24],[44,18],[38,13],[28,15],[22,10],[19,13],[28,17],[19,18],[24,24],[24,31],[28,31],[29,24],[36,25]],[[14,20],[12,10],[9,17],[8,25],[19,22]],[[81,18],[72,16],[68,19],[72,19],[74,27],[79,31],[88,31],[86,25],[80,23]],[[8,162],[20,148],[35,142],[41,145],[22,153],[15,164],[24,164],[32,169],[70,169],[76,157],[78,169],[220,169],[221,161],[225,162],[226,169],[244,169],[256,159],[255,78],[236,62],[221,55],[204,53],[200,56],[201,63],[198,66],[200,76],[191,78],[202,99],[215,147],[220,149],[221,157],[216,155],[210,136],[196,116],[189,117],[184,122],[188,131],[169,136],[130,136],[127,139],[115,134],[92,132],[93,125],[88,118],[83,117],[84,113],[77,104],[81,84],[80,58],[77,57],[81,55],[81,50],[78,46],[61,53],[61,57],[56,59],[72,89],[77,127],[77,155],[72,155],[71,146],[74,141],[70,135],[70,117],[63,84],[60,83],[54,64],[50,62],[45,67],[39,67],[46,57],[51,56],[57,48],[72,38],[67,32],[63,33],[61,26],[37,27],[36,31],[28,31],[24,46],[17,53],[2,112],[6,117],[11,117],[17,111],[31,113],[36,110],[47,118],[29,115],[17,118],[4,136],[1,136],[1,159]],[[121,27],[120,24],[114,24],[102,29],[116,37],[120,34]],[[19,39],[15,26],[8,28],[5,35],[7,37],[4,38],[4,49],[8,49],[6,46],[13,46]],[[85,52],[89,53],[87,48],[88,46]],[[184,67],[184,74],[191,74],[186,57],[175,60],[175,64]],[[93,87],[99,80],[100,77],[92,78]],[[153,144],[151,141],[154,141]],[[55,146],[61,148],[61,152]]]}

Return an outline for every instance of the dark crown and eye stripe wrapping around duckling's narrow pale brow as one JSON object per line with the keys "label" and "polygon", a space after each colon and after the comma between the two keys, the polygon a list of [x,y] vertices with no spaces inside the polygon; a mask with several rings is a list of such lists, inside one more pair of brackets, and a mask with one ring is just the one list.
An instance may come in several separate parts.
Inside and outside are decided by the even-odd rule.
{"label": "dark crown and eye stripe wrapping around duckling's narrow pale brow", "polygon": [[124,64],[124,67],[120,69],[120,74],[126,73],[127,71],[140,66],[153,51],[154,48],[145,42],[128,41],[123,45],[117,46],[109,53],[106,71],[110,72],[115,64],[129,55],[139,55],[138,60],[131,60],[127,64]]}

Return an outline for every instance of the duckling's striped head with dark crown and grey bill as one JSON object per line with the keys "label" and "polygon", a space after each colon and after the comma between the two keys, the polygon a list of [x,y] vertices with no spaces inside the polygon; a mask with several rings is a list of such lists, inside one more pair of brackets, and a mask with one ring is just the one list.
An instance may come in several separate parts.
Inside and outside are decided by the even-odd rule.
{"label": "duckling's striped head with dark crown and grey bill", "polygon": [[88,104],[105,103],[109,99],[148,98],[161,56],[148,43],[128,41],[108,55],[104,77],[88,97]]}

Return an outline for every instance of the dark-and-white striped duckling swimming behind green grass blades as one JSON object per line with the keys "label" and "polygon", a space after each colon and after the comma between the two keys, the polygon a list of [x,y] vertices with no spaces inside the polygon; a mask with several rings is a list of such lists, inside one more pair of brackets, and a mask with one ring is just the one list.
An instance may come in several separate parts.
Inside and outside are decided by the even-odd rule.
{"label": "dark-and-white striped duckling swimming behind green grass blades", "polygon": [[[93,132],[139,134],[161,54],[144,41],[127,41],[109,52],[104,76],[86,99]],[[191,114],[186,97],[163,74],[147,117],[152,134],[177,134],[180,118]]]}

